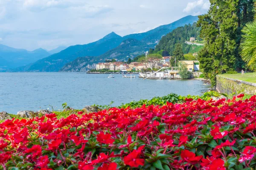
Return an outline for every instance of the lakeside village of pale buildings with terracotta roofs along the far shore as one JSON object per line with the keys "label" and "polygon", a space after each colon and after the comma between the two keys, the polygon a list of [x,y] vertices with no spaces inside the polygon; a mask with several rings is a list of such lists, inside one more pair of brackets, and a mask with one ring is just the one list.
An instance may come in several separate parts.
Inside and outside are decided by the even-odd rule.
{"label": "lakeside village of pale buildings with terracotta roofs along the far shore", "polygon": [[[146,56],[147,54],[148,51],[146,52]],[[168,56],[162,59],[148,59],[147,62],[131,62],[129,64],[119,61],[100,62],[96,65],[96,71],[89,71],[87,73],[139,74],[139,77],[143,79],[180,79],[180,66],[184,65],[187,71],[191,73],[190,78],[196,78],[201,75],[200,62],[198,60],[181,60],[177,62],[176,67],[173,67],[170,62],[171,58]],[[123,75],[123,77],[129,76]]]}

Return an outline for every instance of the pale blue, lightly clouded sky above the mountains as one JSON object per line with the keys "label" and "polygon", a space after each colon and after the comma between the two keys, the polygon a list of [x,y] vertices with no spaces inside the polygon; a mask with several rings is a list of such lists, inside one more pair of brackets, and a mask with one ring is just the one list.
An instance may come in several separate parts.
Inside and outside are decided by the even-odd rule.
{"label": "pale blue, lightly clouded sky above the mountains", "polygon": [[0,44],[29,51],[87,44],[114,31],[141,33],[187,15],[209,0],[0,0]]}

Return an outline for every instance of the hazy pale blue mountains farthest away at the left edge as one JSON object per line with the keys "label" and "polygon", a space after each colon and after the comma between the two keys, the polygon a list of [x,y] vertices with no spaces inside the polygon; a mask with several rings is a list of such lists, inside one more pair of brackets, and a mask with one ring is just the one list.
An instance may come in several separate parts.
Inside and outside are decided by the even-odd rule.
{"label": "hazy pale blue mountains farthest away at the left edge", "polygon": [[48,57],[49,55],[50,54],[42,48],[27,51],[25,49],[12,48],[0,44],[0,69],[6,70],[20,67],[35,62],[38,59]]}

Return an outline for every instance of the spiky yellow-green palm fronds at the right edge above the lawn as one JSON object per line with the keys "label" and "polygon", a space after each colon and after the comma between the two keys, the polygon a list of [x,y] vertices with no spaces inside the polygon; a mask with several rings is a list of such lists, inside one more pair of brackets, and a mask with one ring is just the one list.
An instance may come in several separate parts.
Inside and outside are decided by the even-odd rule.
{"label": "spiky yellow-green palm fronds at the right edge above the lawn", "polygon": [[[256,4],[255,4],[256,6]],[[250,70],[256,71],[256,15],[253,22],[249,22],[242,29],[240,55]]]}

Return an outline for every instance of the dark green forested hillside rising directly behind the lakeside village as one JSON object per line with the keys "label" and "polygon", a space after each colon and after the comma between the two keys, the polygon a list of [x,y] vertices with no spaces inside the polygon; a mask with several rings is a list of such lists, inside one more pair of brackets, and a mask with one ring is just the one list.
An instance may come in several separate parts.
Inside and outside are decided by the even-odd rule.
{"label": "dark green forested hillside rising directly behind the lakeside village", "polygon": [[[189,41],[190,37],[195,37],[196,40],[201,40],[200,38],[200,31],[201,28],[196,26],[196,23],[192,25],[185,25],[183,27],[178,27],[166,36],[163,36],[158,45],[156,45],[155,52],[157,51],[168,51],[169,54],[172,56],[173,51],[175,49],[175,44],[180,43],[183,48],[184,54],[189,52],[197,52],[194,49],[191,49],[192,46],[195,45],[188,45],[185,42]],[[200,50],[201,47],[197,47]]]}

